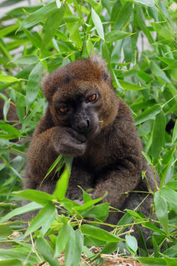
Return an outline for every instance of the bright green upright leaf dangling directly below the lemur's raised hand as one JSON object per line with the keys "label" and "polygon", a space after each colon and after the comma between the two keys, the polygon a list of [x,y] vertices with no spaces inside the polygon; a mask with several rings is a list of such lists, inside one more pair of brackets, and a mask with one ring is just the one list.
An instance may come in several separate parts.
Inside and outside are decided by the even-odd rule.
{"label": "bright green upright leaf dangling directly below the lemur's raised hand", "polygon": [[71,174],[72,160],[73,160],[73,157],[65,158],[66,165],[61,174],[61,177],[59,177],[59,180],[57,181],[55,192],[53,194],[55,198],[58,200],[64,199],[64,196],[67,193],[69,177]]}

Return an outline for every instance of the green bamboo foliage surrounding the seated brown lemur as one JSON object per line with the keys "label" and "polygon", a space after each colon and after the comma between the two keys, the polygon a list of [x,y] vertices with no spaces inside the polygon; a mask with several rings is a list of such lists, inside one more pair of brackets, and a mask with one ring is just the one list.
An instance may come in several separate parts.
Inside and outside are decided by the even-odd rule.
{"label": "green bamboo foliage surrounding the seated brown lemur", "polygon": [[[18,2],[23,6],[23,1]],[[4,0],[0,7],[13,3]],[[79,265],[82,252],[103,264],[101,253],[110,254],[118,247],[139,254],[139,260],[147,265],[176,265],[175,5],[172,0],[41,1],[38,6],[12,6],[0,18],[1,26],[6,25],[0,30],[0,98],[5,101],[0,121],[0,239],[1,243],[10,241],[13,245],[10,250],[0,249],[0,265],[34,265],[42,261],[59,265],[57,255],[63,250],[66,265]],[[93,51],[108,62],[116,92],[135,116],[144,143],[143,154],[161,179],[160,189],[151,192],[152,213],[155,209],[158,220],[127,210],[118,226],[110,225],[113,233],[98,228],[111,210],[106,203],[94,205],[102,198],[92,200],[83,192],[84,204],[79,205],[64,197],[69,161],[59,179],[63,194],[58,194],[58,186],[53,195],[33,190],[19,192],[29,135],[46,108],[40,91],[43,72],[88,57]],[[16,121],[8,121],[11,106],[16,106]],[[145,178],[144,173],[142,176]],[[19,198],[32,202],[19,207]],[[37,209],[40,212],[23,233],[23,222],[13,217]],[[138,246],[130,231],[122,238],[127,225],[132,229],[135,224],[152,230],[146,242],[139,228]],[[18,236],[16,232],[20,232]],[[25,239],[28,235],[32,245]],[[87,248],[90,245],[103,245],[103,249],[95,255]],[[148,248],[154,250],[151,255]]]}

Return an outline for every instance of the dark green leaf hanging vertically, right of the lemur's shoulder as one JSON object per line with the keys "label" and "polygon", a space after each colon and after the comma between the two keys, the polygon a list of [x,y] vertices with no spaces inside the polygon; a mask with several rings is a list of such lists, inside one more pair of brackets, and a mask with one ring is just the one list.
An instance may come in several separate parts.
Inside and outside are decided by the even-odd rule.
{"label": "dark green leaf hanging vertically, right of the lemur's shoulder", "polygon": [[152,135],[152,157],[154,165],[158,162],[159,155],[164,146],[165,129],[166,117],[164,111],[161,111],[156,115]]}

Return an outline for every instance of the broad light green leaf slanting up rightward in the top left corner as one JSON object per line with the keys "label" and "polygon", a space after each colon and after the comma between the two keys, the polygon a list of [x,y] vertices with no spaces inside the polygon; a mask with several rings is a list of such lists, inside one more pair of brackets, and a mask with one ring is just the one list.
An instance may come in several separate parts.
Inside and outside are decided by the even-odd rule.
{"label": "broad light green leaf slanting up rightward in the top left corner", "polygon": [[34,13],[32,13],[28,18],[21,23],[21,26],[18,28],[18,31],[21,31],[23,28],[30,28],[40,21],[46,19],[52,13],[57,11],[57,5],[55,2],[47,4],[46,6],[42,6],[41,9],[38,9]]}

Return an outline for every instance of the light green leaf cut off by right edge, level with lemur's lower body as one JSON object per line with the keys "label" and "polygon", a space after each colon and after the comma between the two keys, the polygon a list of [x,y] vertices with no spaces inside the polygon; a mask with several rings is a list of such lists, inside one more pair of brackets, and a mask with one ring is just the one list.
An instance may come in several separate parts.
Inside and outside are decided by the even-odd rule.
{"label": "light green leaf cut off by right edge, level with lemur's lower body", "polygon": [[169,189],[169,187],[162,187],[160,189],[160,195],[166,199],[169,206],[171,206],[173,211],[177,214],[177,192],[173,189]]}

